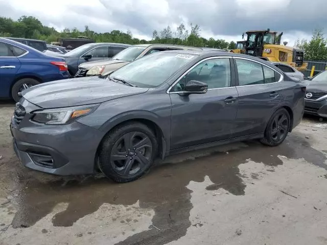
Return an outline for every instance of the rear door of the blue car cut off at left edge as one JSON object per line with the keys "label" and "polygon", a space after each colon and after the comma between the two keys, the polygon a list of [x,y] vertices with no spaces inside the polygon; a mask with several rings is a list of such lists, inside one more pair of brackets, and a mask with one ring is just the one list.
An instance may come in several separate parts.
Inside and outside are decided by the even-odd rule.
{"label": "rear door of the blue car cut off at left edge", "polygon": [[11,84],[20,68],[17,57],[25,53],[21,48],[0,41],[0,97],[10,97]]}

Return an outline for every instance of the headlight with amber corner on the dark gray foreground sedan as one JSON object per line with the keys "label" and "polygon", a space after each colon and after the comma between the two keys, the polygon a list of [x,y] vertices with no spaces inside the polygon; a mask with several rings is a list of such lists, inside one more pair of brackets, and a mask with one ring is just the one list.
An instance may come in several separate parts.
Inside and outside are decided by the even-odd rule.
{"label": "headlight with amber corner on the dark gray foreground sedan", "polygon": [[99,104],[34,111],[31,120],[48,125],[68,124],[81,116],[94,112],[98,106]]}

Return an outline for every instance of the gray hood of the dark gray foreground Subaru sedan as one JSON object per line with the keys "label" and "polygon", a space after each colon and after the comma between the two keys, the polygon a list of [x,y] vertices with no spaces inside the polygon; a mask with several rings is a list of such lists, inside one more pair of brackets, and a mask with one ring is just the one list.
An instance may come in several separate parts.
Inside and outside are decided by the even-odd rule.
{"label": "gray hood of the dark gray foreground Subaru sedan", "polygon": [[148,90],[90,77],[39,84],[23,91],[22,96],[39,107],[58,108],[102,103]]}

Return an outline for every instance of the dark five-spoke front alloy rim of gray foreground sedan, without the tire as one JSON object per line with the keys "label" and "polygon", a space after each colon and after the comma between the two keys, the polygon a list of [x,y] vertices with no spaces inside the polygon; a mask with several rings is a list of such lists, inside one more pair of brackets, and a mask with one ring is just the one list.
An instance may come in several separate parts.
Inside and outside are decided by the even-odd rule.
{"label": "dark five-spoke front alloy rim of gray foreground sedan, without the tire", "polygon": [[110,164],[121,176],[132,176],[146,169],[151,163],[152,142],[142,132],[129,132],[120,137],[113,145]]}

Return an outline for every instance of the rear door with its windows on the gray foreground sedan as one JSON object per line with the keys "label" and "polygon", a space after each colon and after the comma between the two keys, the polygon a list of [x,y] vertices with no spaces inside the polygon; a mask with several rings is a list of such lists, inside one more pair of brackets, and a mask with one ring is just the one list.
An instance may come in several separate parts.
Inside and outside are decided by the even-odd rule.
{"label": "rear door with its windows on the gray foreground sedan", "polygon": [[235,137],[262,133],[283,95],[281,75],[265,64],[234,58],[239,94]]}

